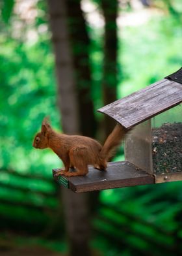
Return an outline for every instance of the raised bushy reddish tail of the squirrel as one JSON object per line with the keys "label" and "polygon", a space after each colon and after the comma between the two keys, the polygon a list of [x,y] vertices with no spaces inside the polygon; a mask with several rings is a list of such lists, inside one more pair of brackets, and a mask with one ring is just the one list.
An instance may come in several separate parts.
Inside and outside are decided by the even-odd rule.
{"label": "raised bushy reddish tail of the squirrel", "polygon": [[108,161],[108,159],[112,157],[114,150],[121,144],[127,132],[128,130],[119,123],[114,127],[101,149],[100,156],[102,159]]}

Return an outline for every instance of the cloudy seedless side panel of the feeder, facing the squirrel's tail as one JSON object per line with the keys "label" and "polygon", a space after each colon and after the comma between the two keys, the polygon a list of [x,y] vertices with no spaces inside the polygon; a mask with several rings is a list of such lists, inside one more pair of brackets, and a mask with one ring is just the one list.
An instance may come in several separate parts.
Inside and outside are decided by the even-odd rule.
{"label": "cloudy seedless side panel of the feeder, facing the squirrel's tail", "polygon": [[151,120],[133,128],[125,138],[125,161],[153,174],[151,154]]}

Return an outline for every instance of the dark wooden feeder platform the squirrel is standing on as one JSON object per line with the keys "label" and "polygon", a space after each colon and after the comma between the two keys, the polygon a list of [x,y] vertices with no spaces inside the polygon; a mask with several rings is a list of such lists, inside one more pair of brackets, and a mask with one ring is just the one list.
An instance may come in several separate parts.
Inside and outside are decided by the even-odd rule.
{"label": "dark wooden feeder platform the squirrel is standing on", "polygon": [[76,193],[155,183],[151,174],[144,172],[127,161],[108,163],[107,171],[89,167],[89,172],[86,176],[55,176],[59,170],[53,169],[55,180],[60,185],[64,185],[64,187],[68,187]]}

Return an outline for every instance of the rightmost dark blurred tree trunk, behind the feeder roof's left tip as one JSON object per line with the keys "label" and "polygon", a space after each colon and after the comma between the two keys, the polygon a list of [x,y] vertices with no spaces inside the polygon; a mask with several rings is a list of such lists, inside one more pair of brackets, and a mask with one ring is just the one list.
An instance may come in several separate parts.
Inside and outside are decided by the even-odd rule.
{"label": "rightmost dark blurred tree trunk, behind the feeder roof's left tip", "polygon": [[[118,16],[118,0],[100,0],[101,9],[105,19],[104,31],[104,59],[103,59],[103,104],[109,104],[116,101],[117,89],[117,54],[118,54],[118,35],[116,19]],[[105,116],[104,127],[105,136],[116,125],[116,121]]]}

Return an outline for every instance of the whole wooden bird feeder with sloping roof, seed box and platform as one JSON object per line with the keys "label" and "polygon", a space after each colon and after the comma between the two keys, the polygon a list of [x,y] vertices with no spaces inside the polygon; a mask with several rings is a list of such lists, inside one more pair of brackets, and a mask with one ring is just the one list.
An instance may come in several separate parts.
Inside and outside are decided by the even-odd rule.
{"label": "whole wooden bird feeder with sloping roof, seed box and platform", "polygon": [[106,172],[89,167],[86,176],[55,178],[77,193],[182,180],[181,102],[182,68],[100,108],[131,130],[125,139],[125,161],[109,163]]}

